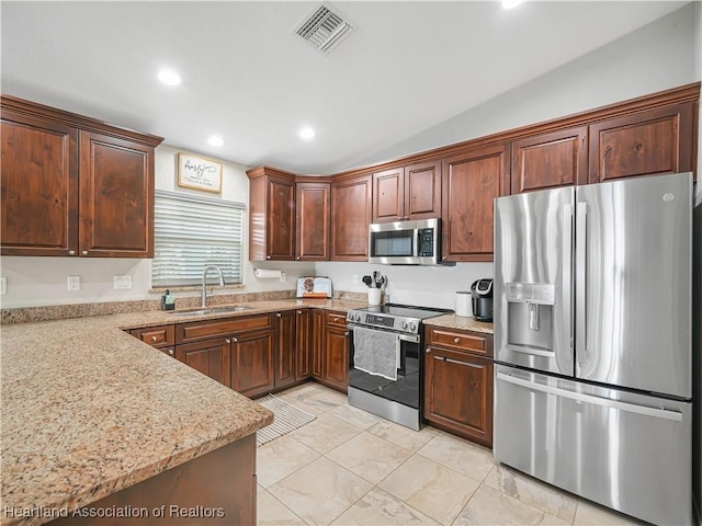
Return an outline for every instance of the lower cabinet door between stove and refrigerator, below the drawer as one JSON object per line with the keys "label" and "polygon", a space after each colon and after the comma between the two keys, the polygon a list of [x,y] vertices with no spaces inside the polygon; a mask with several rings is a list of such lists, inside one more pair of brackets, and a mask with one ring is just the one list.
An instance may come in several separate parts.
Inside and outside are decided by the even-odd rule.
{"label": "lower cabinet door between stove and refrigerator, below the drawer", "polygon": [[441,347],[424,354],[424,418],[492,445],[492,361]]}

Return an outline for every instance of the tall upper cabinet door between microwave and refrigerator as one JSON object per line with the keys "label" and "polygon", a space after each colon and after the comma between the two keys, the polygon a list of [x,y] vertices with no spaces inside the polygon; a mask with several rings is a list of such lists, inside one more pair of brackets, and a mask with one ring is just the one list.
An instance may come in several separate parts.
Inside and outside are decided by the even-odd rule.
{"label": "tall upper cabinet door between microwave and refrigerator", "polygon": [[509,146],[443,161],[444,261],[492,261],[492,201],[509,187]]}

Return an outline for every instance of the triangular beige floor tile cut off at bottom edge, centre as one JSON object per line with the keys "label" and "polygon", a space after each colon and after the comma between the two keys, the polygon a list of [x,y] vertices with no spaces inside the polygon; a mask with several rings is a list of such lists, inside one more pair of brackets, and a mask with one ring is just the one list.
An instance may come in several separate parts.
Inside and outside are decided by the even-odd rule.
{"label": "triangular beige floor tile cut off at bottom edge, centre", "polygon": [[409,526],[415,524],[437,525],[438,523],[383,490],[374,488],[331,524]]}

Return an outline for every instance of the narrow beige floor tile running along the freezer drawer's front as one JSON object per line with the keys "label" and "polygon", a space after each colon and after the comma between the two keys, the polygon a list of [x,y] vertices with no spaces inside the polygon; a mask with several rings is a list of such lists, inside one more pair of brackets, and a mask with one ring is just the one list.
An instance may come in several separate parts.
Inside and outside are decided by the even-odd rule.
{"label": "narrow beige floor tile running along the freezer drawer's front", "polygon": [[577,498],[528,474],[498,464],[485,478],[485,484],[519,499],[530,506],[573,523]]}

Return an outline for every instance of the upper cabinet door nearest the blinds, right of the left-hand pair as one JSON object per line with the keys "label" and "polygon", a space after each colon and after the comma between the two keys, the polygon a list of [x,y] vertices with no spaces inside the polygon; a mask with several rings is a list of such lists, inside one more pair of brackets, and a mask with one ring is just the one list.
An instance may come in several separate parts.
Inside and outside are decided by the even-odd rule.
{"label": "upper cabinet door nearest the blinds, right of the left-hand pair", "polygon": [[80,255],[154,258],[152,152],[80,132]]}

